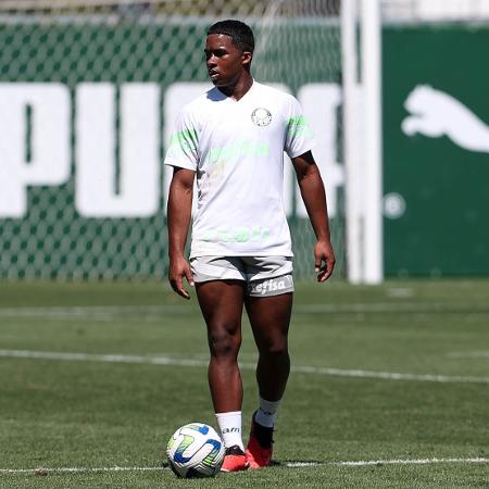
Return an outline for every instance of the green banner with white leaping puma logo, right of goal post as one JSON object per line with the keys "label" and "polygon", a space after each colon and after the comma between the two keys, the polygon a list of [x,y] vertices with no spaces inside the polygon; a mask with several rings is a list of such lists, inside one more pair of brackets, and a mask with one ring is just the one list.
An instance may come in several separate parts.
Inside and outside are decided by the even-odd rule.
{"label": "green banner with white leaping puma logo, right of goal post", "polygon": [[385,269],[489,274],[489,26],[384,28]]}

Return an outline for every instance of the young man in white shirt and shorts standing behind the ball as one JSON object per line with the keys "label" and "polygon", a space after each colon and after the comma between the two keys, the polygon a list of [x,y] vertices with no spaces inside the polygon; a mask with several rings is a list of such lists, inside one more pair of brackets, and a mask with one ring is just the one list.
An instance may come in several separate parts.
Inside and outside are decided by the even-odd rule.
{"label": "young man in white shirt and shorts standing behind the ball", "polygon": [[[174,167],[168,278],[186,299],[184,279],[197,289],[208,327],[209,385],[227,472],[271,464],[274,424],[289,376],[293,280],[283,202],[284,151],[292,160],[317,238],[317,281],[329,278],[335,266],[311,130],[293,97],[252,78],[253,49],[253,33],[246,24],[223,21],[211,26],[204,52],[214,88],[181,110],[165,159]],[[188,263],[184,252],[196,175],[198,205]],[[237,363],[243,306],[259,350],[260,394],[246,449]]]}

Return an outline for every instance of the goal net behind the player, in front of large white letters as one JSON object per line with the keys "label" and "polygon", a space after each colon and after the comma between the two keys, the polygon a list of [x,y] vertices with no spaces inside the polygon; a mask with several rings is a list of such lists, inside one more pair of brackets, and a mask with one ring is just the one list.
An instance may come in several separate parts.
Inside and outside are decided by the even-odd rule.
{"label": "goal net behind the player, in front of large white letters", "polygon": [[[163,168],[176,112],[205,86],[222,18],[256,35],[253,75],[293,93],[317,139],[342,268],[338,1],[0,1],[0,278],[162,278]],[[298,278],[314,236],[292,168]]]}

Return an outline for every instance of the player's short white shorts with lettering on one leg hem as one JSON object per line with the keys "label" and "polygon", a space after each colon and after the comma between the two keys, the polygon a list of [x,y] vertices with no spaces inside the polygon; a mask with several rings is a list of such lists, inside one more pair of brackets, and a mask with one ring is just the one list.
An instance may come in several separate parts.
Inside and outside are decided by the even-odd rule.
{"label": "player's short white shorts with lettering on one leg hem", "polygon": [[190,259],[193,280],[243,280],[252,297],[293,292],[290,256],[196,256]]}

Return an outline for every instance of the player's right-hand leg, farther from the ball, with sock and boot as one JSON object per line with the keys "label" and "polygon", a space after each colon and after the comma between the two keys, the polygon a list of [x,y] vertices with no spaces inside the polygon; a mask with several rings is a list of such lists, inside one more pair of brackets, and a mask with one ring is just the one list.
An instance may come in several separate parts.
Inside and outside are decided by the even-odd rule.
{"label": "player's right-hand leg, farther from the ball, with sock and boot", "polygon": [[290,372],[288,331],[292,292],[247,297],[247,313],[259,349],[256,381],[260,406],[253,414],[247,459],[250,468],[268,466],[275,419]]}

